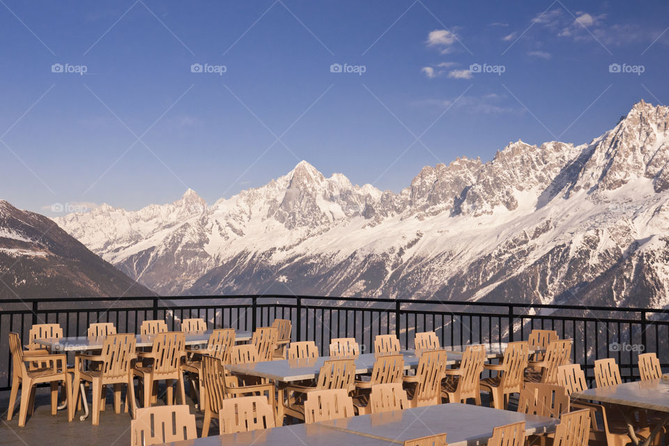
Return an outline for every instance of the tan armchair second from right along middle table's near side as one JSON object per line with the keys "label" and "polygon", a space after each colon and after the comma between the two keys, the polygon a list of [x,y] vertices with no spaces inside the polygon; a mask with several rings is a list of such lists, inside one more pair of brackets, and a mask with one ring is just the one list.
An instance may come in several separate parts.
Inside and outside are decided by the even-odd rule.
{"label": "tan armchair second from right along middle table's near side", "polygon": [[523,388],[523,371],[528,365],[529,346],[526,341],[509,342],[504,351],[502,364],[484,364],[484,369],[497,371],[497,376],[484,378],[481,390],[490,392],[495,409],[507,407],[509,395]]}

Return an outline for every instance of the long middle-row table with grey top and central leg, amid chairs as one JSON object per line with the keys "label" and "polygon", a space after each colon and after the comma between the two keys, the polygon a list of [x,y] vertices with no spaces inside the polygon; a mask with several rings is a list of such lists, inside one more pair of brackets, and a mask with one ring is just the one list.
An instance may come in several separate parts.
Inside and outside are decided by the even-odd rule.
{"label": "long middle-row table with grey top and central leg, amid chairs", "polygon": [[[418,367],[420,357],[417,357],[413,352],[403,352],[404,369],[415,369]],[[266,378],[275,381],[278,387],[278,404],[277,404],[277,420],[284,419],[284,385],[294,383],[295,381],[314,379],[318,376],[318,372],[323,367],[325,360],[332,358],[328,356],[306,358],[301,360],[279,360],[266,362],[252,362],[249,364],[227,364],[225,368],[233,373],[258,376],[259,378]],[[334,358],[339,359],[339,358]],[[346,359],[346,358],[341,358]],[[355,360],[355,374],[369,374],[374,369],[374,362],[376,361],[375,353],[364,353],[357,357],[352,357]],[[447,353],[447,365],[453,365],[460,362],[461,357],[455,355],[450,357]]]}

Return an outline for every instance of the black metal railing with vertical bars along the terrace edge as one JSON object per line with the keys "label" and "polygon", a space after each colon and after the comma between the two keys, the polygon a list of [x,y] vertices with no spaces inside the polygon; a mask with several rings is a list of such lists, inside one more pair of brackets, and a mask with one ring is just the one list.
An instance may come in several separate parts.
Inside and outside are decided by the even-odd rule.
{"label": "black metal railing with vertical bars along the terrace edge", "polygon": [[93,322],[138,332],[142,321],[160,318],[179,330],[179,321],[192,317],[205,318],[209,328],[237,330],[289,318],[293,341],[315,341],[325,355],[335,337],[355,337],[364,352],[373,350],[376,334],[394,333],[402,348],[413,348],[422,331],[435,331],[443,346],[453,346],[520,341],[541,328],[574,339],[572,359],[589,377],[594,360],[614,357],[623,378],[635,378],[644,351],[658,353],[669,366],[669,317],[661,309],[293,295],[12,299],[0,302],[0,390],[10,386],[8,332],[18,332],[25,344],[36,323],[59,323],[72,337],[85,336]]}

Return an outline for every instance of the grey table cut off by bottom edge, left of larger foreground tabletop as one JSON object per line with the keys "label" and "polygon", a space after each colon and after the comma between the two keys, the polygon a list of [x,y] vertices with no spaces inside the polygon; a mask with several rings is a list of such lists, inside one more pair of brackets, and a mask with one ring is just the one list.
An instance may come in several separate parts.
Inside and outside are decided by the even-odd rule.
{"label": "grey table cut off by bottom edge, left of larger foreground tabletop", "polygon": [[369,438],[355,433],[335,431],[321,423],[294,424],[293,426],[273,427],[258,431],[229,433],[227,435],[210,436],[194,440],[168,443],[171,446],[386,446],[387,440]]}

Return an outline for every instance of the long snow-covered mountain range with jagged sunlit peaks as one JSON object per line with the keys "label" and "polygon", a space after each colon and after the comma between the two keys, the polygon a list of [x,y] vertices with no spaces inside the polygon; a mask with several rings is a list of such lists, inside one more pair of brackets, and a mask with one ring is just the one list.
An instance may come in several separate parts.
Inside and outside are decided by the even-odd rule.
{"label": "long snow-covered mountain range with jagged sunlit peaks", "polygon": [[212,206],[55,219],[166,295],[296,293],[669,305],[669,107],[589,144],[518,141],[424,167],[399,194],[302,161]]}

